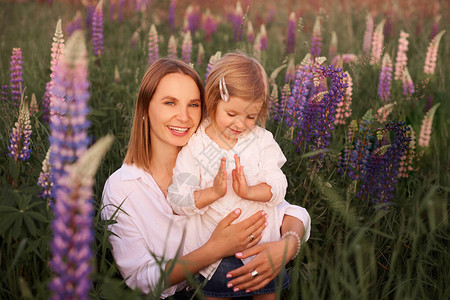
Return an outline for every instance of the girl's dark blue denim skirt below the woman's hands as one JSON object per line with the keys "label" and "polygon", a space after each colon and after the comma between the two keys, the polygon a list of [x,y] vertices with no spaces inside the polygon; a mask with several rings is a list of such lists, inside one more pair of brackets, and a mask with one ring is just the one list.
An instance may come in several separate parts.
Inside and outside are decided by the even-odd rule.
{"label": "girl's dark blue denim skirt below the woman's hands", "polygon": [[[271,294],[275,293],[277,288],[285,289],[289,285],[289,275],[286,272],[286,269],[282,269],[280,274],[277,275],[271,282],[269,282],[265,287],[260,290],[247,293],[245,290],[233,292],[233,288],[228,288],[228,281],[231,279],[227,278],[227,273],[242,267],[244,264],[240,259],[237,259],[234,256],[225,257],[219,264],[214,275],[211,279],[206,283],[206,285],[202,288],[202,292],[205,296],[209,297],[242,297],[242,296],[251,296],[251,295],[263,295],[263,294]],[[204,282],[206,280],[201,274],[198,275],[198,279],[200,282]],[[281,282],[281,280],[283,280]]]}

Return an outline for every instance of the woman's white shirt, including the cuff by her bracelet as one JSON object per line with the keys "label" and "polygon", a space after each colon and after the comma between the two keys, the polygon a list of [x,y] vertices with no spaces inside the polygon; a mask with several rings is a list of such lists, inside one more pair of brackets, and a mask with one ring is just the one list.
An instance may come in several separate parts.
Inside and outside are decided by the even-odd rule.
{"label": "woman's white shirt, including the cuff by her bracelet", "polygon": [[[149,293],[161,280],[167,261],[183,249],[187,217],[175,215],[153,177],[134,165],[124,164],[109,177],[103,205],[102,219],[116,221],[109,226],[113,232],[109,240],[122,277],[129,287]],[[284,201],[277,210],[279,218],[290,215],[301,220],[304,238],[309,238],[311,218],[304,208]],[[185,286],[182,282],[169,287],[161,296],[167,298]]]}

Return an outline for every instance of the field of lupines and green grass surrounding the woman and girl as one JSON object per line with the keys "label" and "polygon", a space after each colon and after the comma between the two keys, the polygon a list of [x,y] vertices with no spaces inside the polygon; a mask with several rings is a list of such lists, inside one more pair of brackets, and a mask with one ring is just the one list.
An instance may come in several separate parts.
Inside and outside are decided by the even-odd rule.
{"label": "field of lupines and green grass surrounding the woman and girl", "polygon": [[140,79],[166,56],[205,78],[238,49],[270,76],[286,198],[312,218],[278,297],[449,299],[448,16],[438,0],[2,1],[0,298],[143,297],[99,217]]}

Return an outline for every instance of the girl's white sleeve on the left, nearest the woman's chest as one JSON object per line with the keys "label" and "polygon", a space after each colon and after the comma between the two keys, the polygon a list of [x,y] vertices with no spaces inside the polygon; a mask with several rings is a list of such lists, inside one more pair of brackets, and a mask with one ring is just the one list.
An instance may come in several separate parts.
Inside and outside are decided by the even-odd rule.
{"label": "girl's white sleeve on the left, nearest the woman's chest", "polygon": [[194,191],[200,189],[200,166],[195,160],[191,140],[178,153],[173,169],[172,184],[169,186],[167,201],[179,215],[204,214],[208,206],[201,209],[195,206]]}

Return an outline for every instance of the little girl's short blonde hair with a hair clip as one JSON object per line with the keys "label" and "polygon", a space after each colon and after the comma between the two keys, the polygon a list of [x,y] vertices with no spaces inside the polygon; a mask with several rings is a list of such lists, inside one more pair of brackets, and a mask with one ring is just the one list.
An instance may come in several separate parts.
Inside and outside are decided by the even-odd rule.
{"label": "little girl's short blonde hair with a hair clip", "polygon": [[228,53],[214,63],[205,86],[206,114],[212,122],[215,122],[217,104],[223,101],[219,90],[222,78],[230,97],[262,102],[258,123],[264,125],[269,109],[269,82],[261,64],[242,52]]}

